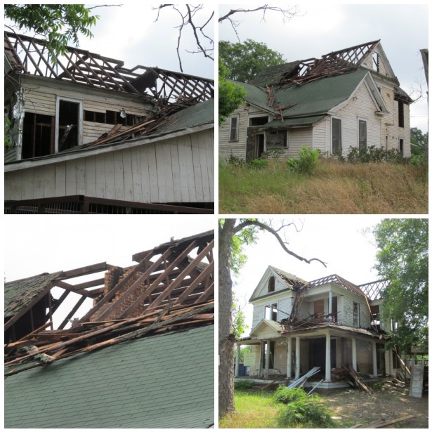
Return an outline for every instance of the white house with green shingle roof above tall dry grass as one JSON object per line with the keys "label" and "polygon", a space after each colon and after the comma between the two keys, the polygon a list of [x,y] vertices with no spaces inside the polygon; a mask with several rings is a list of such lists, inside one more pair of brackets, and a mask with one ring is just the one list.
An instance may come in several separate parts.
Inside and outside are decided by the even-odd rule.
{"label": "white house with green shingle roof above tall dry grass", "polygon": [[223,159],[264,152],[296,157],[302,146],[346,156],[350,148],[410,156],[410,97],[379,41],[269,67],[248,83],[244,103],[219,129]]}

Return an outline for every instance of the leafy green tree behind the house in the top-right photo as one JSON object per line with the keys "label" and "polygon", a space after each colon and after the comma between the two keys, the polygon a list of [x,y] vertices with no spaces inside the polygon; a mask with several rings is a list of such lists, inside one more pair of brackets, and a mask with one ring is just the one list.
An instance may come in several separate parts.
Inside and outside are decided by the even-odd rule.
{"label": "leafy green tree behind the house in the top-right photo", "polygon": [[266,67],[286,63],[282,54],[251,39],[247,39],[243,44],[220,41],[219,58],[229,71],[225,78],[241,82],[251,81]]}

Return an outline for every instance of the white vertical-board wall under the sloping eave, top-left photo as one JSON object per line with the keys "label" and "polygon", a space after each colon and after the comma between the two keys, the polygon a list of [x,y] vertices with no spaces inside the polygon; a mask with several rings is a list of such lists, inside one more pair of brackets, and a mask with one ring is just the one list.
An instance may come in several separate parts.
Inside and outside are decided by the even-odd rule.
{"label": "white vertical-board wall under the sloping eave, top-left photo", "polygon": [[213,202],[214,131],[5,174],[5,199]]}

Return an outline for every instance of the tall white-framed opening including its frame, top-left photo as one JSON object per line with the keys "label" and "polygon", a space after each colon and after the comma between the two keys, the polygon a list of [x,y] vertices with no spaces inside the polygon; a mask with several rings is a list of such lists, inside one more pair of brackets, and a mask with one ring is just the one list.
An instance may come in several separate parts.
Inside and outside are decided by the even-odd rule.
{"label": "tall white-framed opening including its frame, top-left photo", "polygon": [[82,101],[70,98],[57,99],[55,116],[55,151],[61,152],[81,144]]}

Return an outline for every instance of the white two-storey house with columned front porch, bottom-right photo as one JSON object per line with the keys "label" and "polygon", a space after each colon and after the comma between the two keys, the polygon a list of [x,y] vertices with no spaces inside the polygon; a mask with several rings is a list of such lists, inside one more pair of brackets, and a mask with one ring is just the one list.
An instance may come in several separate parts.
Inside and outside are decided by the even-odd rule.
{"label": "white two-storey house with columned front porch, bottom-right photo", "polygon": [[254,306],[249,336],[238,340],[251,377],[299,378],[320,367],[322,388],[346,386],[344,372],[394,375],[398,356],[386,351],[379,320],[383,281],[355,285],[338,275],[306,282],[268,266],[249,300]]}

